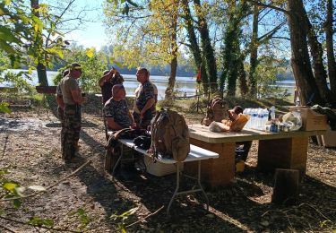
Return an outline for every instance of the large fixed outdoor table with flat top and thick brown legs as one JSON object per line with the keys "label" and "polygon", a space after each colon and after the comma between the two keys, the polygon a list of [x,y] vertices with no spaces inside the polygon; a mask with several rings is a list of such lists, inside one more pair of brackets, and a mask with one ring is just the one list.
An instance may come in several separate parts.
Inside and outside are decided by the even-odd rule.
{"label": "large fixed outdoor table with flat top and thick brown legs", "polygon": [[[309,136],[321,135],[324,131],[294,131],[268,133],[258,130],[213,133],[208,126],[188,125],[190,143],[220,154],[217,160],[202,161],[202,178],[210,187],[228,186],[235,176],[236,142],[259,141],[258,164],[260,170],[275,168],[298,169],[300,176],[306,173]],[[193,163],[185,164],[185,170],[194,173]]]}

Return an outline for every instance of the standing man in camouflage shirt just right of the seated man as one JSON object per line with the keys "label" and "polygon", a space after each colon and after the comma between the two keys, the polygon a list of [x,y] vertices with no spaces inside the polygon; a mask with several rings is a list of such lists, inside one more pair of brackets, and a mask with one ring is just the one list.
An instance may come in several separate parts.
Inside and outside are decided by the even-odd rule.
{"label": "standing man in camouflage shirt just right of the seated man", "polygon": [[136,79],[142,84],[135,97],[134,121],[137,126],[147,129],[151,125],[151,118],[155,115],[154,87],[150,82],[150,73],[146,68],[136,72]]}

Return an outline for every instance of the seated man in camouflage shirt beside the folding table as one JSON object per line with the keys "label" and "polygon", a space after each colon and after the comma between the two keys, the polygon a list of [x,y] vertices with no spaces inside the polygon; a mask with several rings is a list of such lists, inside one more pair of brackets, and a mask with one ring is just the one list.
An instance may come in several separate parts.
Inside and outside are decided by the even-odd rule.
{"label": "seated man in camouflage shirt beside the folding table", "polygon": [[110,130],[120,130],[134,125],[134,118],[128,109],[125,95],[124,86],[116,84],[112,88],[112,98],[105,103],[104,116]]}

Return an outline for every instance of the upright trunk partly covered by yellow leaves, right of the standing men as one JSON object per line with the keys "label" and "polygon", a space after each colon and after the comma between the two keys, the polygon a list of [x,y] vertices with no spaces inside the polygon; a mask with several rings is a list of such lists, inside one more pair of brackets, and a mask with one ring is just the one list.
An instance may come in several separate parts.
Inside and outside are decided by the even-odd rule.
{"label": "upright trunk partly covered by yellow leaves, right of the standing men", "polygon": [[177,9],[178,0],[174,3],[174,11],[171,16],[171,50],[172,59],[170,62],[170,75],[168,79],[168,87],[166,89],[165,99],[173,99],[174,87],[177,78]]}

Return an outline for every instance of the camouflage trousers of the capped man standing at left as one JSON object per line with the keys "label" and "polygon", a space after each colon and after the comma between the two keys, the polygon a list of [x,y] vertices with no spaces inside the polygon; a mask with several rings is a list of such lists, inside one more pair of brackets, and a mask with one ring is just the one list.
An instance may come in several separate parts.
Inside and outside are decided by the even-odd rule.
{"label": "camouflage trousers of the capped man standing at left", "polygon": [[64,127],[62,127],[61,131],[63,159],[71,160],[74,157],[78,140],[80,139],[81,127],[81,106],[65,104]]}

